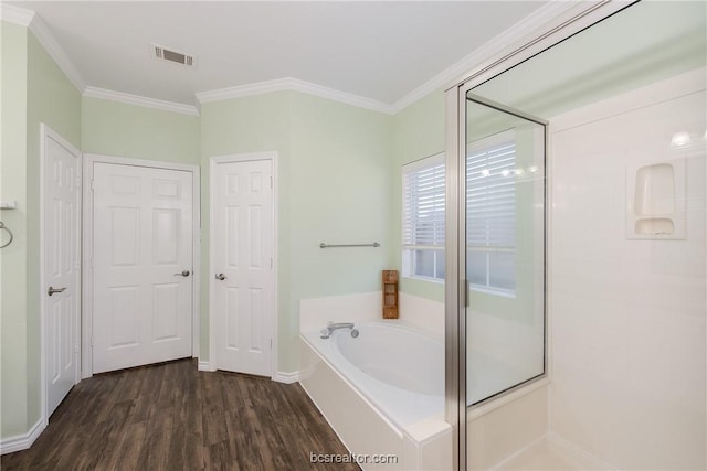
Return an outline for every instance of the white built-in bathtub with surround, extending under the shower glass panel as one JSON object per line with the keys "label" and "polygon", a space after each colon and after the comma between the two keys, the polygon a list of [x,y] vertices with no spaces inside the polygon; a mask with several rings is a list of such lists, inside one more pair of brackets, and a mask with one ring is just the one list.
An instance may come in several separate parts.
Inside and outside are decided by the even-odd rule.
{"label": "white built-in bathtub with surround, extending under the shower glass panel", "polygon": [[[407,322],[383,321],[381,297],[378,291],[300,301],[299,383],[349,451],[400,458],[395,464],[361,464],[363,470],[452,469],[443,402],[444,307],[401,292]],[[341,330],[323,340],[327,321],[354,322],[360,335]],[[520,373],[486,352],[469,350],[467,361],[469,402],[507,387]],[[469,469],[493,468],[542,437],[547,417],[547,379],[472,409]],[[486,440],[487,430],[506,432]]]}

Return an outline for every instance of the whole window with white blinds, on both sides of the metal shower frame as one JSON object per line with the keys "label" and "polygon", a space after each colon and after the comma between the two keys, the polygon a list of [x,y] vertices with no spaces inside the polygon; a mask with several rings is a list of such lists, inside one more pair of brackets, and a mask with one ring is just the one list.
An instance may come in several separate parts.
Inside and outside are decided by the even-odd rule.
{"label": "whole window with white blinds, on both sides of the metal shower frame", "polygon": [[[476,141],[466,157],[467,278],[515,295],[516,144],[513,131]],[[444,156],[403,167],[403,276],[444,280]]]}

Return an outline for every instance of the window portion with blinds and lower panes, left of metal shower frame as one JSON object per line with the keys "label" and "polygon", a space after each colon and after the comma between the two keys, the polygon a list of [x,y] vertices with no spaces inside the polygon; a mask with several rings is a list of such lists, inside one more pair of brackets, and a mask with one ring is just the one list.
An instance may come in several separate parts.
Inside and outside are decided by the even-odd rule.
{"label": "window portion with blinds and lower panes, left of metal shower frame", "polygon": [[444,154],[402,172],[403,276],[444,280]]}

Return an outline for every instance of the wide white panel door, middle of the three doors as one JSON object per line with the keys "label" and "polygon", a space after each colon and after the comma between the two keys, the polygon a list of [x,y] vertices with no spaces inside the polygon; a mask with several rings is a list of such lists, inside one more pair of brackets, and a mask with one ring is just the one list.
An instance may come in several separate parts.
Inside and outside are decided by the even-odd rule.
{"label": "wide white panel door, middle of the three doors", "polygon": [[191,356],[192,173],[94,162],[93,371]]}

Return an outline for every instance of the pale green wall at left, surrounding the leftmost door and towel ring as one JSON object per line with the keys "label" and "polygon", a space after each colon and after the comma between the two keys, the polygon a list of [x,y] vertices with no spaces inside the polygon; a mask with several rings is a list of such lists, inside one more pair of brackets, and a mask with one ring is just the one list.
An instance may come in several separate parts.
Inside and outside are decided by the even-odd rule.
{"label": "pale green wall at left, surrounding the leftmost door and towel ring", "polygon": [[2,199],[20,207],[2,211],[15,234],[2,249],[0,436],[11,437],[41,416],[40,124],[80,147],[81,94],[32,33],[3,22],[2,98]]}

